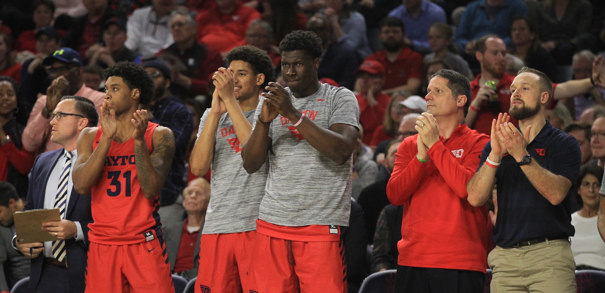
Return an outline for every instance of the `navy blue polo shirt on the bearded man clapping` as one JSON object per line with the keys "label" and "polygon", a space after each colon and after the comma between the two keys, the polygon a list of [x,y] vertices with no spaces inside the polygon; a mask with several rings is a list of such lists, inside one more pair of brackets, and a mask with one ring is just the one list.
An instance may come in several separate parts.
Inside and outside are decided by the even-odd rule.
{"label": "navy blue polo shirt on the bearded man clapping", "polygon": [[[483,148],[481,162],[489,156],[491,145]],[[580,145],[571,135],[546,124],[527,146],[532,159],[551,173],[575,183],[581,164]],[[487,167],[486,167],[487,168]],[[573,236],[571,225],[571,190],[558,205],[552,205],[534,188],[514,157],[506,154],[495,177],[498,191],[498,216],[494,228],[494,242],[500,247],[545,237]]]}

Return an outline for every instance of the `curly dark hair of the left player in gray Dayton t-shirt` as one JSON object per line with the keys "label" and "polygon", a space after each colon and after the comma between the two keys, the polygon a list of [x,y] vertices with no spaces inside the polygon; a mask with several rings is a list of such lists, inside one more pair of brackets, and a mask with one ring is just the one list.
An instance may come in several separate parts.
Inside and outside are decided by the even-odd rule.
{"label": "curly dark hair of the left player in gray Dayton t-shirt", "polygon": [[275,67],[266,51],[250,45],[235,47],[227,53],[227,64],[231,61],[241,60],[250,64],[254,74],[263,73],[265,76],[262,87],[269,84],[270,81],[275,81]]}

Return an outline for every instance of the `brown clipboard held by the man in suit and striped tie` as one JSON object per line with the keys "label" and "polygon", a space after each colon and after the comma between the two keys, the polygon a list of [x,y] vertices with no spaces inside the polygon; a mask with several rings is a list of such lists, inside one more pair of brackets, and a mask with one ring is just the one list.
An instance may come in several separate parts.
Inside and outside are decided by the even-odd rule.
{"label": "brown clipboard held by the man in suit and striped tie", "polygon": [[15,231],[17,243],[34,243],[57,240],[56,237],[42,230],[42,223],[60,221],[59,209],[32,209],[31,211],[15,212]]}

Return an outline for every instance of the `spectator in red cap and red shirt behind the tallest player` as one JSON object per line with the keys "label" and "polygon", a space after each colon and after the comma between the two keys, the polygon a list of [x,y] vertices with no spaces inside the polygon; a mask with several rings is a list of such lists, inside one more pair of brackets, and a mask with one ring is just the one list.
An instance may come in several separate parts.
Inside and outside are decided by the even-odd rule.
{"label": "spectator in red cap and red shirt behind the tallest player", "polygon": [[370,145],[374,131],[382,123],[390,96],[381,92],[384,85],[384,66],[376,60],[366,60],[356,71],[355,91],[358,94],[359,122],[364,125],[364,143]]}

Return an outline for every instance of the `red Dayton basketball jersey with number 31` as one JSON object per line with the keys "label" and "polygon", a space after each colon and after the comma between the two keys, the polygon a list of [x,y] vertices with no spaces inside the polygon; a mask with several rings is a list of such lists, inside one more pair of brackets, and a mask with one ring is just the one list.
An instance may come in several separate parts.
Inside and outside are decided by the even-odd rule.
{"label": "red Dayton basketball jersey with number 31", "polygon": [[[149,153],[153,151],[152,136],[157,123],[149,122],[145,142]],[[93,150],[103,135],[97,128]],[[124,143],[111,141],[105,165],[91,190],[93,223],[88,225],[88,240],[105,245],[126,245],[162,236],[160,223],[160,197],[146,199],[139,185],[134,160],[134,139]],[[153,232],[155,231],[155,232]]]}

